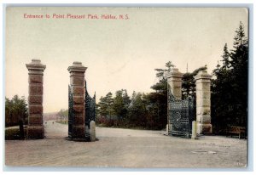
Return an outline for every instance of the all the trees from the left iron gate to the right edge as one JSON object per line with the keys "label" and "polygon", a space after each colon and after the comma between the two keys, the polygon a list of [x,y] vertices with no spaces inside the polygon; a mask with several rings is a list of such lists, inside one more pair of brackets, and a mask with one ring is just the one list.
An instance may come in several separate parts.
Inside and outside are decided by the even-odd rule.
{"label": "all the trees from the left iron gate to the right edge", "polygon": [[[222,64],[212,72],[212,127],[213,133],[224,133],[229,125],[247,127],[247,59],[248,45],[242,24],[236,30],[233,49],[224,45]],[[108,93],[97,104],[97,122],[104,126],[142,127],[162,129],[167,123],[166,73],[174,65],[166,63],[166,69],[155,69],[159,82],[151,88],[154,93],[133,92],[131,98],[126,90]],[[195,97],[194,76],[207,69],[202,66],[182,77],[183,99]]]}

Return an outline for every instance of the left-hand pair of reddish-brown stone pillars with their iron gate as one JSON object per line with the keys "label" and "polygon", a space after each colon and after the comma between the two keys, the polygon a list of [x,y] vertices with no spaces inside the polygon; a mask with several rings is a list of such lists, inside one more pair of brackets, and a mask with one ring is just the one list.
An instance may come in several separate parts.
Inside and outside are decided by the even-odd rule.
{"label": "left-hand pair of reddish-brown stone pillars with their iron gate", "polygon": [[[26,64],[28,69],[28,127],[27,138],[44,138],[43,123],[43,76],[45,65],[39,59]],[[84,73],[87,67],[73,62],[68,67],[68,138],[72,140],[95,141],[96,95],[90,98],[87,92]]]}

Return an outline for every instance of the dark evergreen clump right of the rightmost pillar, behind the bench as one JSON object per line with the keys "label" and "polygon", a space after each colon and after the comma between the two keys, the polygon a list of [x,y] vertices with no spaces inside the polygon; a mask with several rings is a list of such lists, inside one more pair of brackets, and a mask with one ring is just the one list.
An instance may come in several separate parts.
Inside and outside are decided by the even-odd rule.
{"label": "dark evergreen clump right of the rightmost pillar, behind the bench", "polygon": [[212,125],[224,133],[229,125],[247,127],[248,42],[240,23],[233,49],[224,45],[222,63],[213,71]]}

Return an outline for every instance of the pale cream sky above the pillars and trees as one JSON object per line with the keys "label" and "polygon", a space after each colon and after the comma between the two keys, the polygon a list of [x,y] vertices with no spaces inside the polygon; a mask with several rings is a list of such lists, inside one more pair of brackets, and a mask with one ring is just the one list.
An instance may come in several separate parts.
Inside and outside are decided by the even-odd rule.
{"label": "pale cream sky above the pillars and trees", "polygon": [[[25,19],[43,14],[44,19]],[[99,19],[46,19],[45,14],[97,14]],[[102,14],[128,14],[129,20],[102,20]],[[41,59],[44,112],[67,109],[67,67],[80,61],[90,95],[99,99],[119,89],[149,93],[155,68],[172,61],[186,72],[207,65],[208,73],[231,49],[246,8],[7,8],[5,96],[28,96],[26,64]],[[247,34],[247,31],[246,31]]]}

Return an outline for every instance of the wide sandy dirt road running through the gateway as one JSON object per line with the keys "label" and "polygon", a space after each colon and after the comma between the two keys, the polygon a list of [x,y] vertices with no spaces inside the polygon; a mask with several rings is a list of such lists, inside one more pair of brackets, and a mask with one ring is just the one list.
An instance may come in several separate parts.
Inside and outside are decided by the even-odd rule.
{"label": "wide sandy dirt road running through the gateway", "polygon": [[67,125],[48,121],[46,139],[7,140],[5,164],[32,167],[245,167],[247,140],[199,140],[160,131],[96,127],[99,141],[67,141]]}

